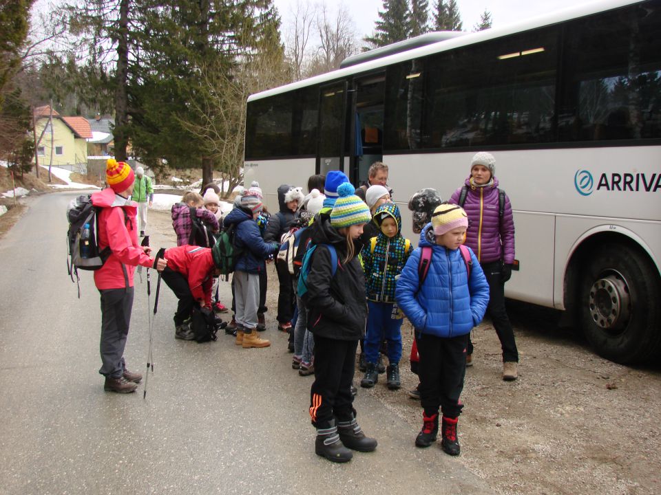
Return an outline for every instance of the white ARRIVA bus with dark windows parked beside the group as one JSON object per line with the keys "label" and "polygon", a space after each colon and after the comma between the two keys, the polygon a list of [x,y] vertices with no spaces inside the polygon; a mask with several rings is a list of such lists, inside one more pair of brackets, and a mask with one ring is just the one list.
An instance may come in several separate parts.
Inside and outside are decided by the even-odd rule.
{"label": "white ARRIVA bus with dark windows parked beside the group", "polygon": [[605,358],[658,359],[661,0],[381,52],[252,95],[245,183],[277,210],[280,184],[332,169],[359,184],[383,161],[417,241],[408,198],[432,187],[449,199],[472,155],[490,151],[516,226],[505,295],[565,310]]}

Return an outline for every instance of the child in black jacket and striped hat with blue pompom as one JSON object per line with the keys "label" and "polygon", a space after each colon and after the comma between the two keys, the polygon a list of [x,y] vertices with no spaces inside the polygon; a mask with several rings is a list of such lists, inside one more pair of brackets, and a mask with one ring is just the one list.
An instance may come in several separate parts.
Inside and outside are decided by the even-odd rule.
{"label": "child in black jacket and striped hat with blue pompom", "polygon": [[[367,306],[357,241],[370,212],[351,184],[337,188],[330,215],[320,213],[310,227],[310,253],[304,302],[308,330],[315,338],[315,382],[310,417],[317,428],[315,452],[329,461],[346,462],[349,449],[372,452],[377,441],[361,432],[353,408],[351,383],[358,340],[364,336]],[[335,267],[333,263],[337,263]]]}

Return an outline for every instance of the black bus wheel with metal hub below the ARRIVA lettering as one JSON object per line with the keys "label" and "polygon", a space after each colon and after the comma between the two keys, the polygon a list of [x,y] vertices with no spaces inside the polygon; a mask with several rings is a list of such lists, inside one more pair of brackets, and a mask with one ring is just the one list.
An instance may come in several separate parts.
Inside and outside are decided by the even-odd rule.
{"label": "black bus wheel with metal hub below the ARRIVA lettering", "polygon": [[580,320],[585,338],[603,358],[649,362],[661,350],[661,289],[647,256],[624,244],[607,244],[581,276]]}

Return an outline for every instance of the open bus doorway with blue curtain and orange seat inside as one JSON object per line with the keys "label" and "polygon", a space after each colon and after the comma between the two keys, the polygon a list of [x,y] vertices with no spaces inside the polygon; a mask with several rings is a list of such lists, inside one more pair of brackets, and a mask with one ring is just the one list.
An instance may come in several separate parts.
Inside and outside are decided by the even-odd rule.
{"label": "open bus doorway with blue curtain and orange seat inside", "polygon": [[359,186],[367,181],[370,165],[384,158],[385,74],[357,78],[353,81],[353,115],[350,146],[350,181]]}

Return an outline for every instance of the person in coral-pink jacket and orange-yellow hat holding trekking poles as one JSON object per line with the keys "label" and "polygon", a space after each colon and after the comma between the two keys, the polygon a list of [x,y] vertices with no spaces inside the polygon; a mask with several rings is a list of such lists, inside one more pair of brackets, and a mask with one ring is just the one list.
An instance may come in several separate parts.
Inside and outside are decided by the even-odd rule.
{"label": "person in coral-pink jacket and orange-yellow hat holding trekking poles", "polygon": [[101,293],[101,369],[103,388],[108,392],[130,393],[143,376],[126,369],[124,347],[129,334],[133,307],[133,274],[137,265],[165,268],[149,257],[151,249],[140,247],[136,230],[138,203],[129,201],[134,173],[124,162],[109,159],[105,177],[109,188],[92,195],[98,213],[98,249],[110,248],[110,255],[94,272],[94,284]]}

